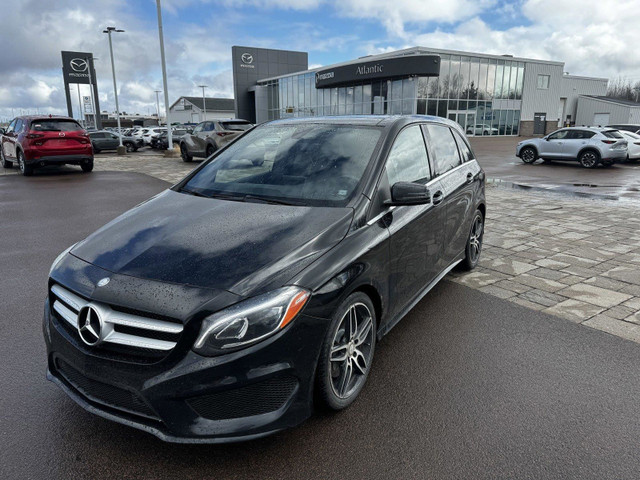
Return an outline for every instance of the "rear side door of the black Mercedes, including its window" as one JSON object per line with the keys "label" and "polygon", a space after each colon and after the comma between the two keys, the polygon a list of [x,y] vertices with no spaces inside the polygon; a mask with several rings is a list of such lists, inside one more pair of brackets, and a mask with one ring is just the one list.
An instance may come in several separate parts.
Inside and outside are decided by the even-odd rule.
{"label": "rear side door of the black Mercedes, including its window", "polygon": [[458,260],[464,251],[475,213],[473,198],[480,181],[480,166],[457,130],[436,123],[427,124],[424,129],[435,178],[442,190],[444,240],[437,267],[439,274]]}

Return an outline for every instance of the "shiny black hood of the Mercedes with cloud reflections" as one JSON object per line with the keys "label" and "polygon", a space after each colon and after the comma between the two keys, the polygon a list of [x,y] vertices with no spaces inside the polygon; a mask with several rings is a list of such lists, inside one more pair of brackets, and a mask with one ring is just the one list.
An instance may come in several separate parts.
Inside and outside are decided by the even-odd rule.
{"label": "shiny black hood of the Mercedes with cloud reflections", "polygon": [[167,190],[71,254],[114,273],[245,296],[279,286],[347,234],[353,210],[195,197]]}

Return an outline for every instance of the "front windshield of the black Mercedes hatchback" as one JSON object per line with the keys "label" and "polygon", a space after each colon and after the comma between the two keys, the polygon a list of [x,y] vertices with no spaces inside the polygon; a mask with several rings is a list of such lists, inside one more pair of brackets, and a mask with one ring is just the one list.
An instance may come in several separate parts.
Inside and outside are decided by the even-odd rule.
{"label": "front windshield of the black Mercedes hatchback", "polygon": [[380,129],[265,125],[232,143],[182,188],[245,201],[344,206],[380,139]]}

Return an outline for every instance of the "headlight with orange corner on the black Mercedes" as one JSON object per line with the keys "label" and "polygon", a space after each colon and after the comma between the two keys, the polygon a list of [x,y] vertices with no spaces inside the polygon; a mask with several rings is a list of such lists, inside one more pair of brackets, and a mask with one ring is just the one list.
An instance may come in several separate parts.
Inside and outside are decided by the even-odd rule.
{"label": "headlight with orange corner on the black Mercedes", "polygon": [[283,287],[214,313],[203,320],[193,349],[213,356],[259,342],[287,326],[310,295],[299,287]]}

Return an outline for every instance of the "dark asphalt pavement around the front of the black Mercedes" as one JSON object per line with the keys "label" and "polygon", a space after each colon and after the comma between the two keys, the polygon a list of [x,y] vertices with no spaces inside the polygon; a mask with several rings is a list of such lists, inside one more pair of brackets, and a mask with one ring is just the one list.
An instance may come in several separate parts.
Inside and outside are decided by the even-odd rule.
{"label": "dark asphalt pavement around the front of the black Mercedes", "polygon": [[125,172],[0,178],[0,478],[637,479],[640,345],[443,281],[349,409],[235,445],[165,444],[45,380],[49,265],[166,188]]}

